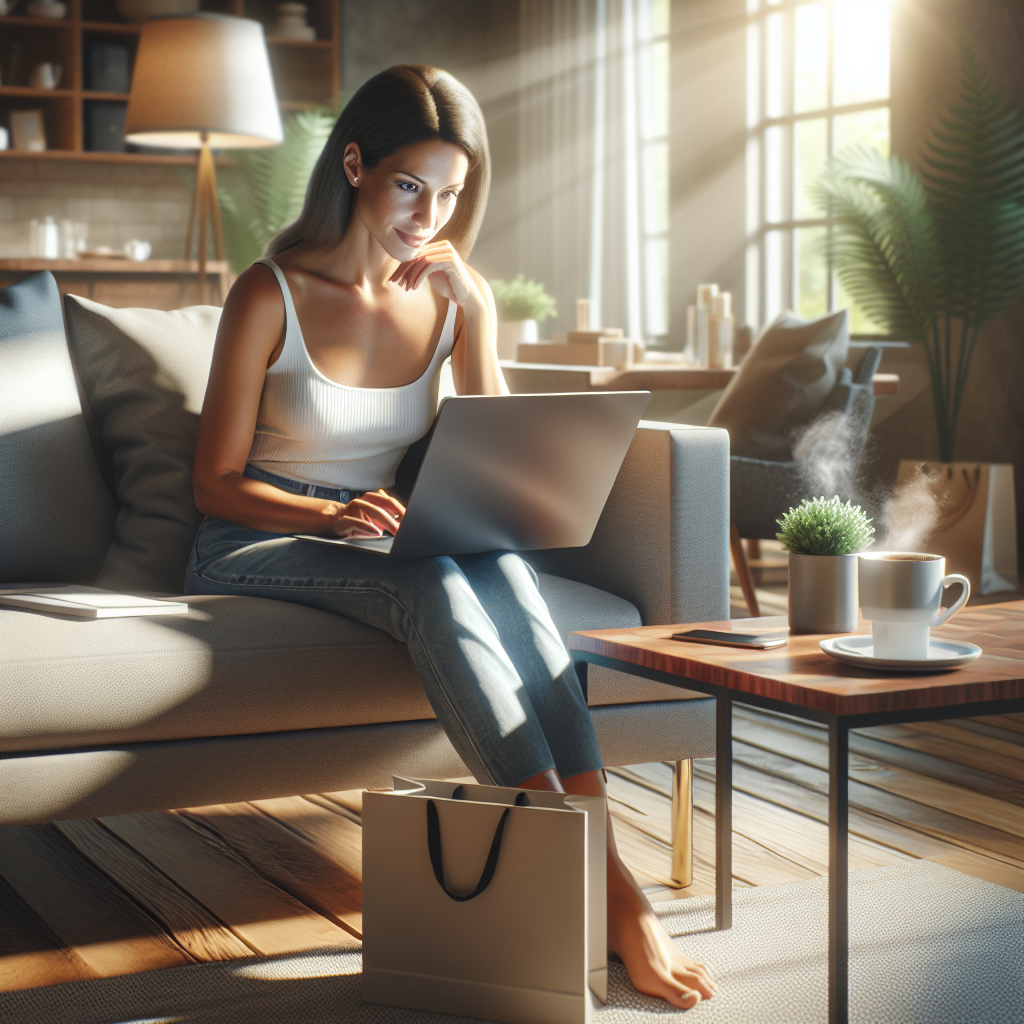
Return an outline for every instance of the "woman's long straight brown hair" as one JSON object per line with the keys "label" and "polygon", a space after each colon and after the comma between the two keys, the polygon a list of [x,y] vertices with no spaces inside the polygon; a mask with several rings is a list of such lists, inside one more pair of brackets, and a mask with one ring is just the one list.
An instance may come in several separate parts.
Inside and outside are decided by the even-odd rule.
{"label": "woman's long straight brown hair", "polygon": [[355,198],[342,165],[349,142],[358,144],[364,165],[372,169],[403,145],[434,138],[461,146],[469,158],[455,213],[436,236],[468,257],[490,188],[487,129],[469,89],[447,72],[426,65],[395,65],[359,87],[316,161],[302,212],[267,246],[266,255],[275,256],[300,242],[321,247],[341,241]]}

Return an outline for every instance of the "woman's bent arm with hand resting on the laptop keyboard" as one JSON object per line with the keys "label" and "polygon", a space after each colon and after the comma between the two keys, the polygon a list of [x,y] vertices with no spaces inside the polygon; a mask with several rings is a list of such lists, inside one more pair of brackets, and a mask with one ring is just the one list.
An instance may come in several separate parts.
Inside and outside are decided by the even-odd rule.
{"label": "woman's bent arm with hand resting on the laptop keyboard", "polygon": [[283,347],[285,305],[271,271],[252,266],[224,303],[199,423],[193,490],[204,515],[275,534],[379,537],[401,506],[387,496],[349,502],[291,495],[243,476],[267,367]]}

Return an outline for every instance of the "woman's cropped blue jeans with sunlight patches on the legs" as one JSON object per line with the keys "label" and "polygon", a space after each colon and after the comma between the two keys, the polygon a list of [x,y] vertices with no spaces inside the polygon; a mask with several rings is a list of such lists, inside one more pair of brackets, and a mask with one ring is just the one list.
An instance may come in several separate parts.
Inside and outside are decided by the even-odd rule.
{"label": "woman's cropped blue jeans with sunlight patches on the legs", "polygon": [[518,785],[551,768],[569,778],[602,766],[575,670],[518,555],[388,558],[206,519],[185,593],[308,604],[401,641],[481,782]]}

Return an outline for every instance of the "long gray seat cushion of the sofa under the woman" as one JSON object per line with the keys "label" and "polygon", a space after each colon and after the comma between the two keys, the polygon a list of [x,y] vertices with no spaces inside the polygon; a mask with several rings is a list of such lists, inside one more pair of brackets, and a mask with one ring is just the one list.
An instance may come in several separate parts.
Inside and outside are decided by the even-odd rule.
{"label": "long gray seat cushion of the sofa under the woman", "polygon": [[[563,632],[640,623],[585,584],[541,577],[541,591]],[[182,600],[188,614],[155,618],[0,610],[0,751],[434,717],[404,645],[379,630],[264,598]]]}

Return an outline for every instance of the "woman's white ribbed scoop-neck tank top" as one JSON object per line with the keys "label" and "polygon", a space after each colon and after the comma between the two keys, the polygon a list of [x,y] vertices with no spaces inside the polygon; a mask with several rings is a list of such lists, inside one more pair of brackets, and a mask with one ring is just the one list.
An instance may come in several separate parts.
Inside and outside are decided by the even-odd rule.
{"label": "woman's white ribbed scoop-neck tank top", "polygon": [[437,414],[441,364],[455,344],[456,303],[447,315],[430,366],[401,387],[348,387],[325,377],[302,338],[288,282],[272,259],[285,298],[285,345],[266,372],[249,462],[301,483],[375,490],[394,483],[406,450]]}

